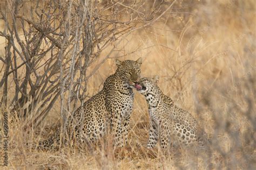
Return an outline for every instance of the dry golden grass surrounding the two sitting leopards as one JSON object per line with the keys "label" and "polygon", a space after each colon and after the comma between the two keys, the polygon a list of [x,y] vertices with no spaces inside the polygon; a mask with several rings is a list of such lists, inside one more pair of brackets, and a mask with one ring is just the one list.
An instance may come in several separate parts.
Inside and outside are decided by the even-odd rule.
{"label": "dry golden grass surrounding the two sitting leopards", "polygon": [[[113,151],[99,144],[93,150],[68,146],[59,151],[28,150],[26,141],[46,138],[53,131],[60,116],[57,103],[40,129],[35,129],[36,133],[26,134],[21,128],[22,121],[12,123],[14,117],[9,117],[9,167],[255,169],[255,2],[212,1],[193,6],[187,3],[183,11],[190,13],[174,16],[174,23],[165,22],[164,18],[163,22],[134,32],[127,38],[124,53],[137,47],[139,50],[120,59],[143,57],[143,76],[159,75],[159,87],[164,93],[190,111],[205,129],[211,138],[207,151],[162,151],[158,147],[147,150],[147,104],[135,92],[129,144],[125,148]],[[182,24],[182,29],[177,28]],[[4,53],[4,41],[0,40]],[[101,55],[106,53],[107,49]],[[118,55],[122,53],[113,57]],[[105,61],[89,79],[88,95],[96,94],[115,69],[114,59]]]}

